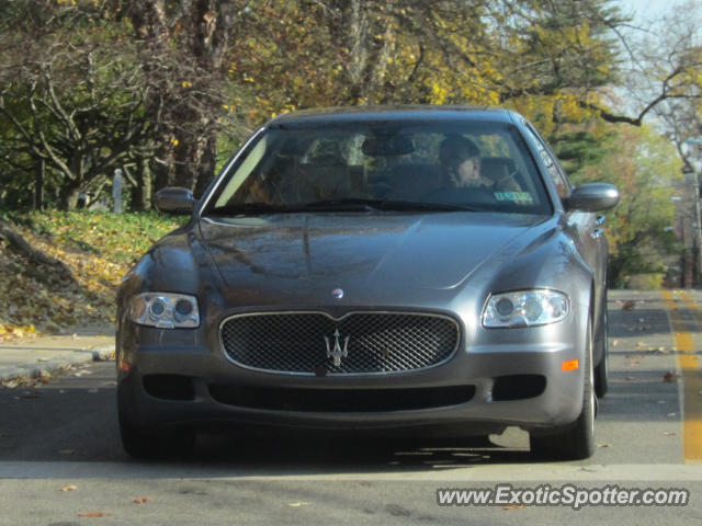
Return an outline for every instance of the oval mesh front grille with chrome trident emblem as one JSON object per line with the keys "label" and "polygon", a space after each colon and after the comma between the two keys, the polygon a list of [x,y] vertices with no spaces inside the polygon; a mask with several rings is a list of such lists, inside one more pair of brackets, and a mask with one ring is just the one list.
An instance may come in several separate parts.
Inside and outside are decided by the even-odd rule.
{"label": "oval mesh front grille with chrome trident emblem", "polygon": [[[224,352],[236,364],[302,375],[422,369],[448,361],[458,346],[458,324],[437,315],[353,312],[338,320],[321,312],[242,315],[225,320],[220,331]],[[337,352],[346,346],[348,353],[339,365],[327,356],[336,344]]]}

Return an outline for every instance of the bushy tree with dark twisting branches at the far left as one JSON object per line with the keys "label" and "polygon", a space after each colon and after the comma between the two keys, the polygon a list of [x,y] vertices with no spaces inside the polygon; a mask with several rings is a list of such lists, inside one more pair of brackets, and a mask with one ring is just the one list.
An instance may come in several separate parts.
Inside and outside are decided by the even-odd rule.
{"label": "bushy tree with dark twisting branches at the far left", "polygon": [[43,4],[12,5],[0,32],[0,129],[5,162],[34,165],[37,196],[48,170],[59,206],[73,208],[146,136],[145,91],[120,27],[101,25],[99,11]]}

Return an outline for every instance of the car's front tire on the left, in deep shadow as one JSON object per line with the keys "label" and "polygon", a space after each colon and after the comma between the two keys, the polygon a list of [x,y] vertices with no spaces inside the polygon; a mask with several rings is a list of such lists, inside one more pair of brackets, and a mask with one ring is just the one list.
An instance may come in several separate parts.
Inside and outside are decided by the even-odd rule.
{"label": "car's front tire on the left, in deep shadow", "polygon": [[120,414],[122,447],[139,460],[184,458],[192,454],[195,434],[189,432],[160,434],[132,425]]}

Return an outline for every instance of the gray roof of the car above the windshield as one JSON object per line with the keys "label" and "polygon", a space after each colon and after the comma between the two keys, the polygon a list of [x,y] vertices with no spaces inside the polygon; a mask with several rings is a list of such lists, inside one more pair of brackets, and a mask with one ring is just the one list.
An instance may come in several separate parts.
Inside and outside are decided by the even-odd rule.
{"label": "gray roof of the car above the windshield", "polygon": [[460,105],[339,106],[309,108],[279,115],[268,123],[331,124],[373,121],[478,121],[512,123],[514,112],[501,107]]}

